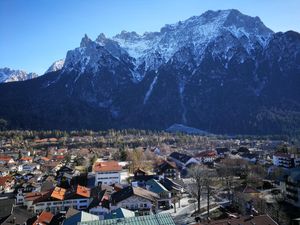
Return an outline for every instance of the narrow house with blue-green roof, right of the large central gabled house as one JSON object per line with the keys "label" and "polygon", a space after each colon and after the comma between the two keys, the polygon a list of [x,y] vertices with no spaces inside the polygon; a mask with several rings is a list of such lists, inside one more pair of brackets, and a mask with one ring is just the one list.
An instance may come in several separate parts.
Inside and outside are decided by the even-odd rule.
{"label": "narrow house with blue-green roof, right of the large central gabled house", "polygon": [[159,199],[157,200],[158,208],[167,208],[169,209],[172,205],[171,202],[171,192],[168,191],[158,180],[148,180],[146,182],[146,189],[153,193],[158,194]]}

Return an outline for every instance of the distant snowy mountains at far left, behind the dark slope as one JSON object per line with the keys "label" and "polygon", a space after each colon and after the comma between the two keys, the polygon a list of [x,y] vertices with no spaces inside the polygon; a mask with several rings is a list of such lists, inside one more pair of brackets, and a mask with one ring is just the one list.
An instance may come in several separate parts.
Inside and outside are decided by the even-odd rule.
{"label": "distant snowy mountains at far left, behind the dark slope", "polygon": [[27,73],[23,70],[12,70],[10,68],[0,68],[0,83],[13,81],[24,81],[38,77],[36,73]]}

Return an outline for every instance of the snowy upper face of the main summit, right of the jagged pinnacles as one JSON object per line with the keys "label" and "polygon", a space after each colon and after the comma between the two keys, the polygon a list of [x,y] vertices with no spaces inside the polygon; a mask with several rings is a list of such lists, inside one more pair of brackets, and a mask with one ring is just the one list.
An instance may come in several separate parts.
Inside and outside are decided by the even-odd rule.
{"label": "snowy upper face of the main summit, right of the jagged pinnacles", "polygon": [[[220,10],[207,11],[201,16],[166,25],[160,32],[138,35],[122,31],[112,39],[136,59],[137,67],[145,63],[144,70],[152,70],[187,45],[194,46],[195,53],[201,56],[209,43],[226,33],[243,39],[242,44],[250,53],[256,44],[264,47],[273,31],[265,27],[258,17],[246,16],[237,10]],[[154,61],[157,58],[160,60]]]}

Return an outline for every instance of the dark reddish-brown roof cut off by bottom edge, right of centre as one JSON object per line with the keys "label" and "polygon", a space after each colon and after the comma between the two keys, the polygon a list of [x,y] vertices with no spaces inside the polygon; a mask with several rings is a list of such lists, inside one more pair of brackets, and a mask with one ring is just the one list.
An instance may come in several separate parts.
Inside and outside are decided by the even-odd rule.
{"label": "dark reddish-brown roof cut off by bottom edge, right of centre", "polygon": [[228,219],[213,220],[198,225],[278,225],[269,215],[237,216]]}

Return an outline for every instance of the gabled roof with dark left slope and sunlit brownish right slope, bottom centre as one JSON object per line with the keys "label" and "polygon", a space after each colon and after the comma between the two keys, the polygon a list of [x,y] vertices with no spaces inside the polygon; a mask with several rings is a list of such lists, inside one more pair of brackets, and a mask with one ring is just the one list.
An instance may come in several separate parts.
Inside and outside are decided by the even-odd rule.
{"label": "gabled roof with dark left slope and sunlit brownish right slope, bottom centre", "polygon": [[113,203],[121,202],[133,195],[139,196],[141,198],[148,199],[150,201],[155,201],[159,196],[151,191],[145,190],[139,187],[128,186],[122,190],[115,192],[111,195],[111,200]]}

